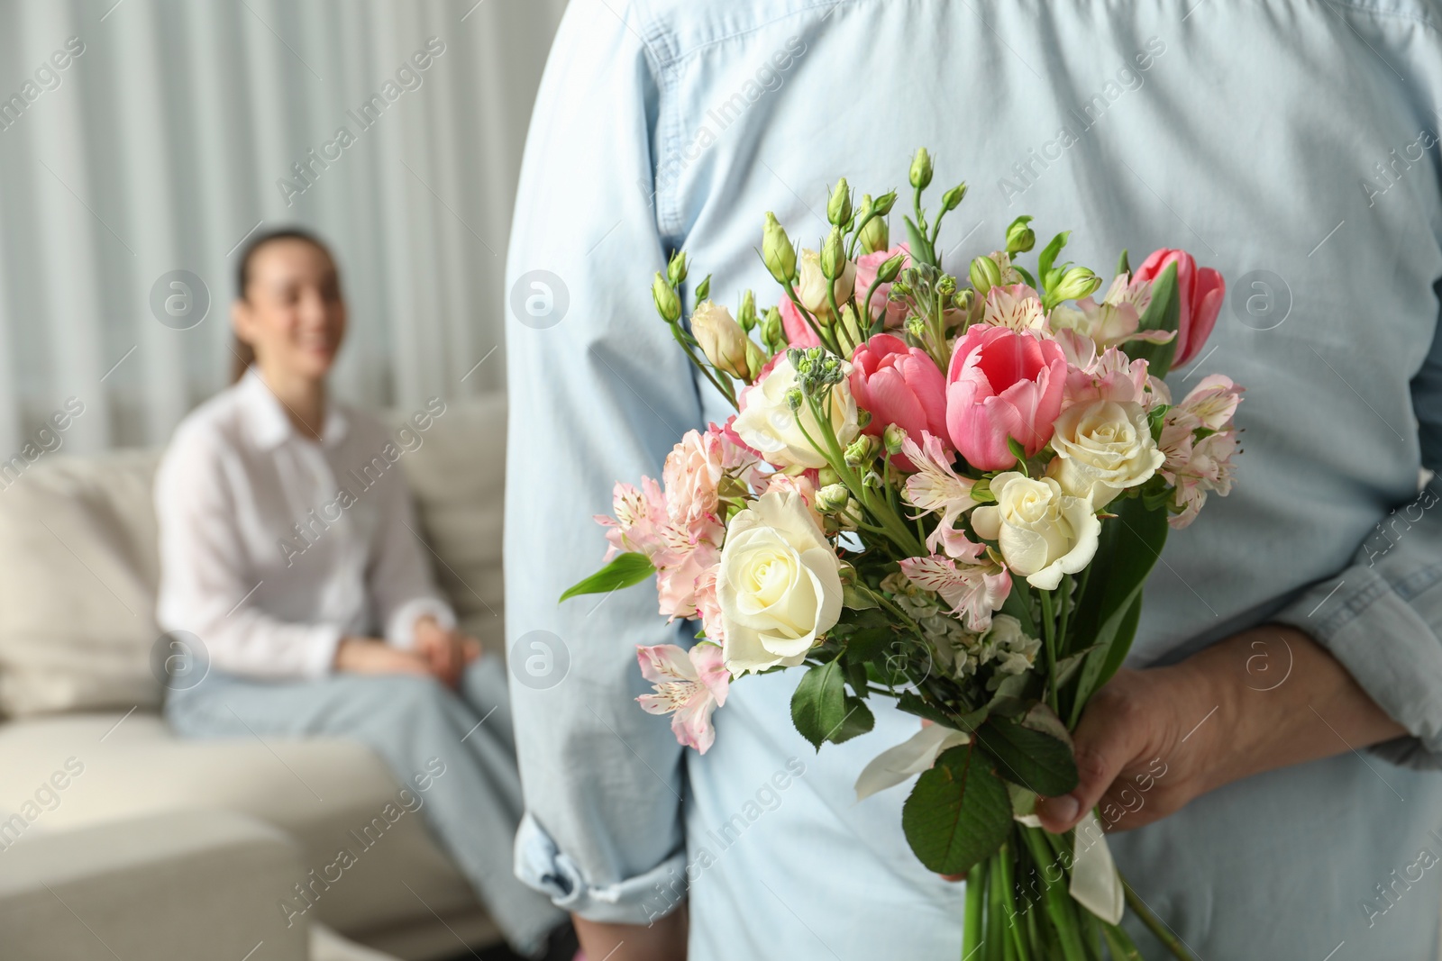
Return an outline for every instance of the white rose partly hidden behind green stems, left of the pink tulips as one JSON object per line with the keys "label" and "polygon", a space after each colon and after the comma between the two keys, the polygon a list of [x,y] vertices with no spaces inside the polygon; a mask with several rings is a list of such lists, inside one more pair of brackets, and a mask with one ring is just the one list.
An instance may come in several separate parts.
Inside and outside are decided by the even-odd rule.
{"label": "white rose partly hidden behind green stems, left of the pink tulips", "polygon": [[[842,365],[849,375],[849,365]],[[796,386],[796,367],[790,357],[783,356],[771,372],[756,382],[741,398],[741,412],[733,424],[737,435],[767,462],[777,467],[826,467],[826,458],[806,439],[809,434],[818,444],[825,444],[820,424],[803,401],[792,411],[786,403],[786,392]],[[861,428],[857,426],[857,401],[851,396],[851,383],[842,379],[831,390],[831,429],[845,448]],[[802,429],[805,428],[805,434]]]}

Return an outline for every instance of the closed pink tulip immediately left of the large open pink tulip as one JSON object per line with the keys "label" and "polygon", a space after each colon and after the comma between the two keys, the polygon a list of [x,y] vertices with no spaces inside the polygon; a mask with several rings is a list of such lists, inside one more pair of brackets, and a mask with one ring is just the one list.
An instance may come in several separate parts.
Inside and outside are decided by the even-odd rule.
{"label": "closed pink tulip immediately left of the large open pink tulip", "polygon": [[[881,437],[895,424],[908,437],[946,437],[946,377],[932,356],[900,337],[877,334],[851,356],[851,395],[871,412],[867,434]],[[895,464],[910,470],[900,454]]]}

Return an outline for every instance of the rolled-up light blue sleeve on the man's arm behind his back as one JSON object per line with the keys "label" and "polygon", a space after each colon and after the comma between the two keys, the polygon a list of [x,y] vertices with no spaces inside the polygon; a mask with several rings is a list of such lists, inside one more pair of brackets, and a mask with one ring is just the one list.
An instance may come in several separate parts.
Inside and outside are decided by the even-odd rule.
{"label": "rolled-up light blue sleeve on the man's arm behind his back", "polygon": [[1377,745],[1389,761],[1442,768],[1442,336],[1412,379],[1422,467],[1412,501],[1377,519],[1351,566],[1275,620],[1301,628],[1410,736]]}

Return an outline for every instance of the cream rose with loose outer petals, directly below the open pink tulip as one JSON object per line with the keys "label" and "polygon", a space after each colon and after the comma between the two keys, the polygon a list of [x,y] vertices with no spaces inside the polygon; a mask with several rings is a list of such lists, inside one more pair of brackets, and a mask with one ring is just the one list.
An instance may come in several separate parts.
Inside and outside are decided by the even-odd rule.
{"label": "cream rose with loose outer petals, directly below the open pink tulip", "polygon": [[972,527],[1001,546],[1012,573],[1051,591],[1063,573],[1092,562],[1102,522],[1086,497],[1064,493],[1051,477],[1031,480],[1017,471],[994,477],[991,490],[996,503],[973,510]]}

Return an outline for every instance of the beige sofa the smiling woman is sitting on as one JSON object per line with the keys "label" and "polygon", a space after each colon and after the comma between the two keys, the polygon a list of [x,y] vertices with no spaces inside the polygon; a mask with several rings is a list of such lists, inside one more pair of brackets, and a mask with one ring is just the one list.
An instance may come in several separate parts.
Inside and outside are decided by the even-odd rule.
{"label": "beige sofa the smiling woman is sitting on", "polygon": [[[500,399],[450,402],[420,435],[421,445],[401,457],[437,581],[466,630],[497,657],[503,431]],[[330,864],[348,846],[348,831],[368,824],[394,795],[389,772],[359,743],[180,741],[167,730],[153,671],[160,630],[150,486],[157,460],[159,451],[94,458],[61,451],[27,464],[19,478],[14,471],[0,475],[0,926],[37,918],[20,909],[25,899],[6,903],[7,879],[19,883],[26,859],[61,862],[65,883],[84,879],[87,859],[94,860],[112,875],[111,900],[121,903],[125,885],[117,879],[127,875],[111,854],[117,846],[136,849],[134,839],[154,834],[157,823],[173,823],[189,837],[180,857],[198,862],[211,841],[222,852],[245,849],[236,839],[247,830],[264,841],[251,847],[278,844],[275,857],[251,872],[248,893],[260,905],[257,924],[275,925],[287,919],[283,900],[291,909],[307,905],[294,885],[310,883],[310,870]],[[84,843],[66,840],[81,831]],[[52,852],[42,854],[40,844]],[[144,862],[146,846],[140,849]],[[144,870],[141,863],[131,875]],[[234,859],[212,864],[211,880],[205,872],[196,876],[196,896],[203,899],[213,885],[216,898],[234,905],[226,883],[234,886],[236,870]],[[277,888],[277,876],[287,886]],[[101,882],[91,888],[95,903],[110,903]],[[415,817],[401,817],[339,882],[311,890],[319,895],[306,906],[306,921],[402,958],[450,957],[497,939]],[[56,938],[85,941],[82,925],[95,922],[72,908],[49,903],[45,924]],[[111,912],[115,924],[136,928],[112,938],[143,947],[146,925],[164,928],[172,911],[156,903],[153,919],[143,909]],[[293,928],[280,924],[270,944],[278,948]],[[99,928],[91,934],[105,939]],[[298,951],[293,957],[304,958]],[[144,955],[169,957],[163,948]]]}

